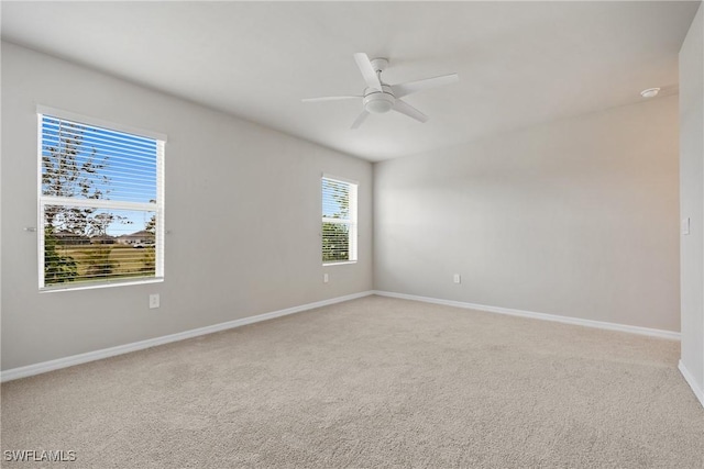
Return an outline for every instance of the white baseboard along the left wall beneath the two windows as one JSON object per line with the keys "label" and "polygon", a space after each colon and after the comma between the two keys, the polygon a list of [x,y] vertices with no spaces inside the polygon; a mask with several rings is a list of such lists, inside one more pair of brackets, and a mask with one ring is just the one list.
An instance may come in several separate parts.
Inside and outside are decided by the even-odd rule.
{"label": "white baseboard along the left wall beneath the two windows", "polygon": [[117,347],[103,348],[101,350],[88,351],[70,357],[57,358],[55,360],[43,361],[41,364],[28,365],[25,367],[12,368],[0,372],[0,382],[11,381],[14,379],[26,378],[34,375],[45,373],[47,371],[61,368],[73,367],[74,365],[86,364],[88,361],[100,360],[102,358],[114,357],[116,355],[129,354],[131,351],[142,350],[144,348],[155,347],[157,345],[168,344],[172,342],[184,340],[186,338],[197,337],[200,335],[212,334],[215,332],[226,331],[229,328],[240,327],[246,324],[258,323],[261,321],[273,320],[274,317],[286,316],[288,314],[300,313],[302,311],[314,310],[316,308],[327,306],[329,304],[341,303],[343,301],[355,300],[358,298],[374,294],[372,291],[363,291],[360,293],[348,294],[344,297],[332,298],[330,300],[317,301],[315,303],[301,304],[299,306],[287,308],[285,310],[272,311],[271,313],[257,314],[255,316],[243,317],[241,320],[228,321],[226,323],[213,324],[211,326],[199,327],[190,331],[184,331],[176,334],[164,335],[162,337],[147,338],[146,340],[134,342],[132,344],[118,345]]}

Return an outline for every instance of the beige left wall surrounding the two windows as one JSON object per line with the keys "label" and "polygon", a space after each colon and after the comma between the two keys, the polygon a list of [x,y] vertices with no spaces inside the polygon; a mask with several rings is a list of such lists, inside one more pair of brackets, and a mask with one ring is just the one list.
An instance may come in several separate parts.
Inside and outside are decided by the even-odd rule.
{"label": "beige left wall surrounding the two windows", "polygon": [[[163,283],[38,292],[37,104],[168,136]],[[360,181],[356,265],[321,266],[322,172]],[[1,182],[3,370],[372,288],[370,163],[7,43]]]}

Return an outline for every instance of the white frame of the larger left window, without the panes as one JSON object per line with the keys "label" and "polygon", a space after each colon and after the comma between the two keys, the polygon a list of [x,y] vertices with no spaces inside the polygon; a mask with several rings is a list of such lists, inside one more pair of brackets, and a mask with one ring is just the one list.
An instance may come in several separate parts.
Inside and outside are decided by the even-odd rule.
{"label": "white frame of the larger left window, without the panes", "polygon": [[[69,121],[79,125],[90,127],[100,127],[108,131],[120,132],[135,135],[139,137],[150,138],[156,143],[156,201],[150,202],[131,202],[110,199],[80,199],[80,198],[61,198],[55,196],[45,196],[43,193],[43,165],[42,155],[44,147],[43,137],[43,118],[54,118],[62,121]],[[87,290],[107,287],[120,287],[129,284],[155,283],[164,281],[164,235],[166,233],[164,225],[164,160],[166,152],[167,137],[164,134],[145,131],[142,129],[131,127],[128,125],[116,124],[113,122],[101,119],[77,114],[61,109],[50,108],[46,105],[36,107],[37,119],[37,273],[40,292],[66,291],[66,290]],[[103,210],[130,210],[130,211],[148,211],[156,214],[156,231],[154,235],[154,276],[145,277],[128,277],[117,279],[103,279],[92,281],[64,282],[56,284],[45,284],[44,263],[45,263],[45,236],[44,236],[44,209],[46,205],[70,205],[81,208],[95,208]]]}

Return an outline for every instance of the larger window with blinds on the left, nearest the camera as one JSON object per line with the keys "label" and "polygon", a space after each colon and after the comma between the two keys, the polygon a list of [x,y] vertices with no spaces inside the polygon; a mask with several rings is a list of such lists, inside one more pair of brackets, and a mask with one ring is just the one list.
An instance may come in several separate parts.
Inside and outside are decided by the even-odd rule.
{"label": "larger window with blinds on the left, nearest the camera", "polygon": [[165,138],[38,114],[40,288],[164,276]]}

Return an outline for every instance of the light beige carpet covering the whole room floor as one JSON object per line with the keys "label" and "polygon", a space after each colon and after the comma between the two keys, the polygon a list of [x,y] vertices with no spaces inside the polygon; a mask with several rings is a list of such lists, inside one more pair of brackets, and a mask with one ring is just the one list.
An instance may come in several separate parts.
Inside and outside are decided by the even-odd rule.
{"label": "light beige carpet covering the whole room floor", "polygon": [[702,468],[678,356],[369,297],[4,383],[1,447],[73,468]]}

